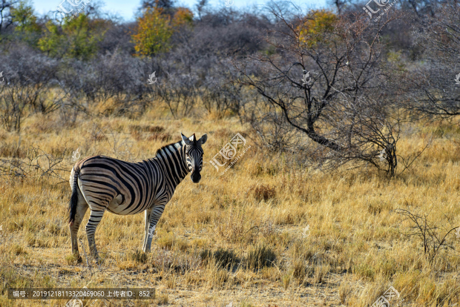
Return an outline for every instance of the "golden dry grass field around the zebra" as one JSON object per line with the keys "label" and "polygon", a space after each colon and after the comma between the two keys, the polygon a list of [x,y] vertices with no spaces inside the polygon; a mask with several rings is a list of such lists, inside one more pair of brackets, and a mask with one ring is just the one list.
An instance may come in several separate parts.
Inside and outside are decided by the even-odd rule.
{"label": "golden dry grass field around the zebra", "polygon": [[[64,154],[64,182],[31,173],[0,177],[0,306],[64,306],[65,300],[9,300],[8,288],[155,288],[154,300],[85,301],[91,306],[370,306],[390,286],[390,306],[460,306],[460,238],[451,232],[430,265],[422,241],[392,210],[460,225],[460,129],[448,122],[407,126],[400,153],[429,147],[393,179],[373,169],[323,173],[268,154],[237,117],[172,120],[161,110],[140,119],[56,114],[27,117],[20,134],[0,130],[0,157],[31,145]],[[71,255],[67,205],[72,152],[125,160],[208,133],[199,184],[179,184],[160,219],[152,250],[140,252],[144,215],[106,212],[96,231],[100,266]],[[224,175],[208,162],[237,132],[251,148]],[[84,224],[79,239],[88,252]],[[306,230],[306,226],[309,226]],[[439,229],[443,233],[442,229]],[[303,234],[304,233],[304,234]],[[259,259],[262,261],[257,261]],[[269,259],[270,261],[265,261]]]}

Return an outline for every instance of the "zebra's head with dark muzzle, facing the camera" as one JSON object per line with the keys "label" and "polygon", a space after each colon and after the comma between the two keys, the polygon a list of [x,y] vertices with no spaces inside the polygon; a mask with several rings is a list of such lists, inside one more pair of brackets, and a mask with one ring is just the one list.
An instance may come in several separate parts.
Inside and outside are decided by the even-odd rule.
{"label": "zebra's head with dark muzzle, facing the camera", "polygon": [[207,134],[203,134],[200,139],[196,139],[195,133],[191,137],[187,137],[180,134],[182,136],[182,140],[186,144],[185,153],[186,153],[186,162],[189,171],[192,173],[190,178],[194,183],[200,182],[201,179],[201,169],[203,168],[203,149],[201,145],[206,143],[208,139]]}

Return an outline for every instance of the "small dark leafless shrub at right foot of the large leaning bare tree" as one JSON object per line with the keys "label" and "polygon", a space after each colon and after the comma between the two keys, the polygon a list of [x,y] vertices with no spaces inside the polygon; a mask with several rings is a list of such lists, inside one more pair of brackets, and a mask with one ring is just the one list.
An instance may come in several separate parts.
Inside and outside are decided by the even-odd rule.
{"label": "small dark leafless shrub at right foot of the large leaning bare tree", "polygon": [[388,107],[385,100],[374,101],[370,97],[364,101],[344,100],[332,108],[337,113],[343,113],[334,122],[334,138],[340,140],[342,149],[327,151],[326,156],[319,157],[319,163],[336,167],[355,161],[358,162],[356,166],[371,165],[378,170],[385,170],[392,177],[397,174],[398,161],[403,166],[399,171],[401,174],[428,147],[427,144],[417,153],[404,156],[398,154],[397,144],[405,115],[400,114],[396,108]]}

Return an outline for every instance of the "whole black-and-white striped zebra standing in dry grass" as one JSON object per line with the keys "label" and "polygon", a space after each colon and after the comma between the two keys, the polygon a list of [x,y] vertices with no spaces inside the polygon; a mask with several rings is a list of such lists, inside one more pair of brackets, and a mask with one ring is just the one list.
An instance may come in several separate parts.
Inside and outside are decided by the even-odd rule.
{"label": "whole black-and-white striped zebra standing in dry grass", "polygon": [[78,161],[72,168],[68,225],[72,253],[80,259],[77,233],[86,210],[89,251],[98,261],[95,242],[96,227],[105,210],[118,215],[145,212],[143,251],[149,252],[156,224],[176,186],[191,172],[192,182],[201,179],[203,145],[208,135],[196,139],[195,134],[157,150],[155,157],[141,162],[127,162],[106,156],[91,156]]}

